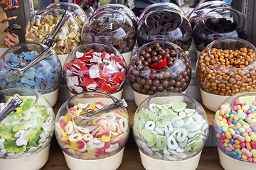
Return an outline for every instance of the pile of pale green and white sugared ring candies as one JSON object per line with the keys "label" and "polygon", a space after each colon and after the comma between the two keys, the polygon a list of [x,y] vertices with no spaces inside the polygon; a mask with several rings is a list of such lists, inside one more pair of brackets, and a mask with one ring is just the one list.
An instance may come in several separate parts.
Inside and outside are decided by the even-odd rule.
{"label": "pile of pale green and white sugared ring candies", "polygon": [[151,103],[134,115],[134,138],[149,157],[183,160],[203,149],[208,122],[182,102]]}

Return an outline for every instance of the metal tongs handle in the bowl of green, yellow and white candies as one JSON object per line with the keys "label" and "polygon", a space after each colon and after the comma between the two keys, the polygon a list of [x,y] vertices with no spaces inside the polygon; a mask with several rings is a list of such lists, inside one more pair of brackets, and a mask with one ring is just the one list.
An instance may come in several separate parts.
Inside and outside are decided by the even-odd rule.
{"label": "metal tongs handle in the bowl of green, yellow and white candies", "polygon": [[0,122],[6,118],[6,115],[9,115],[15,108],[17,108],[22,103],[21,98],[14,96],[6,107],[0,113]]}

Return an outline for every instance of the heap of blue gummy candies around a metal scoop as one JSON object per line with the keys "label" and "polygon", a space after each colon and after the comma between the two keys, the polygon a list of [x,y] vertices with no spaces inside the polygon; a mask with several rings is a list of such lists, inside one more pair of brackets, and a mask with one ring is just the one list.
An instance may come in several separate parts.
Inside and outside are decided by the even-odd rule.
{"label": "heap of blue gummy candies around a metal scoop", "polygon": [[36,51],[21,52],[19,55],[11,53],[9,57],[6,57],[6,62],[0,62],[0,88],[24,86],[34,89],[40,94],[48,94],[57,89],[61,79],[61,66],[58,57],[53,55],[27,69],[21,81],[15,84],[9,84],[6,81],[5,77],[10,69],[25,67],[36,56],[38,56]]}

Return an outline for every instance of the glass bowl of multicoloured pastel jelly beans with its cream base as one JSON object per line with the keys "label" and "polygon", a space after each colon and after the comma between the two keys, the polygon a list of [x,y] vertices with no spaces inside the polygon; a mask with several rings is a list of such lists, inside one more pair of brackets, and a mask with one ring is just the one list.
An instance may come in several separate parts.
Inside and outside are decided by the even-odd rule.
{"label": "glass bowl of multicoloured pastel jelly beans with its cream base", "polygon": [[215,112],[213,136],[224,169],[254,169],[256,164],[256,93],[230,96]]}

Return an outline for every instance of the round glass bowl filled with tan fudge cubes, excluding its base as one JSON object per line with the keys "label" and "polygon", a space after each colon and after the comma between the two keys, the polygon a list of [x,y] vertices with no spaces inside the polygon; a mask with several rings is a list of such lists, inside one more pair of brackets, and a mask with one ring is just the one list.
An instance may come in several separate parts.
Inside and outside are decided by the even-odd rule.
{"label": "round glass bowl filled with tan fudge cubes, excluding its base", "polygon": [[[53,30],[65,13],[61,8],[46,8],[35,13],[26,26],[26,42],[41,42],[53,35]],[[55,35],[53,48],[58,55],[69,54],[80,43],[80,26],[70,15],[65,25]]]}

